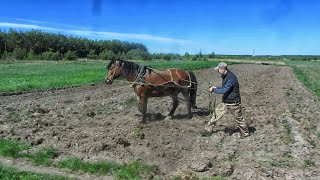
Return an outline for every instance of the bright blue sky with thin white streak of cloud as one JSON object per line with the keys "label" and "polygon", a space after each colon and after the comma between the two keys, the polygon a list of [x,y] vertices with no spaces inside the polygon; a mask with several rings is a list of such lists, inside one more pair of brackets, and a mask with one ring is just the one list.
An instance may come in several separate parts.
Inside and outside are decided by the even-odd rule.
{"label": "bright blue sky with thin white streak of cloud", "polygon": [[318,0],[2,0],[0,28],[145,44],[151,53],[319,55]]}

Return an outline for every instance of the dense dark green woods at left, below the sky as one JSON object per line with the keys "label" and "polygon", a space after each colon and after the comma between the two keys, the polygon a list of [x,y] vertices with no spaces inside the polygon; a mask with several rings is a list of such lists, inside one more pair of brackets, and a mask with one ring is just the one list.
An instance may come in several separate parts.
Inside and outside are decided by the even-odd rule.
{"label": "dense dark green woods at left, below the sky", "polygon": [[119,40],[90,40],[39,30],[0,30],[0,59],[74,60],[151,59],[141,43]]}

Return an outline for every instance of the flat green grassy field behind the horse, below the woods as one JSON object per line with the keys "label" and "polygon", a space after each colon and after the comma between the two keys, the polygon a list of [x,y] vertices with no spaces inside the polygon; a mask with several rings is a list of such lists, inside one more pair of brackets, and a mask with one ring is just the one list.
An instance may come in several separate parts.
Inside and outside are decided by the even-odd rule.
{"label": "flat green grassy field behind the horse, below the woods", "polygon": [[[194,70],[216,65],[212,61],[137,61],[155,69]],[[104,81],[106,61],[35,61],[0,63],[0,92],[22,92],[77,86]]]}

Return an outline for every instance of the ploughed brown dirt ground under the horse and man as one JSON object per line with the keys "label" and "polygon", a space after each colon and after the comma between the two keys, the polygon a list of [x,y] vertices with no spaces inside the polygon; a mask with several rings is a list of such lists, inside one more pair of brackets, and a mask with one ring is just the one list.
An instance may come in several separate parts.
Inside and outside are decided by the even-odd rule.
{"label": "ploughed brown dirt ground under the horse and man", "polygon": [[51,145],[60,152],[57,161],[69,156],[141,160],[157,166],[161,179],[320,179],[319,98],[286,66],[239,64],[230,69],[238,76],[252,132],[245,139],[229,114],[212,136],[199,135],[211,117],[209,82],[221,84],[213,69],[195,71],[198,109],[192,119],[186,119],[185,103],[173,119],[165,119],[171,98],[150,98],[147,123],[141,124],[133,89],[116,81],[0,96],[0,137]]}

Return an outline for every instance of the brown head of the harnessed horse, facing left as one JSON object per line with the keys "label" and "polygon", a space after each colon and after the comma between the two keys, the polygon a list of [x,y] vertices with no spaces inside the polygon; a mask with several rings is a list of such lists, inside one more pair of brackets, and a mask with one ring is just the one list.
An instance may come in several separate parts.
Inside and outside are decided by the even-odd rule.
{"label": "brown head of the harnessed horse, facing left", "polygon": [[111,60],[107,65],[107,76],[105,77],[105,82],[111,84],[114,79],[119,77],[123,71],[123,61],[122,60]]}

